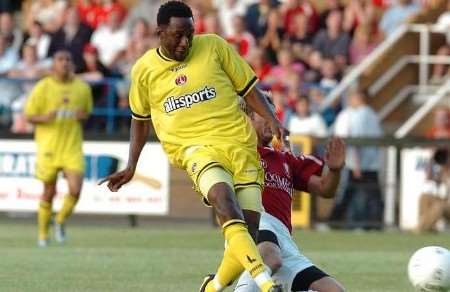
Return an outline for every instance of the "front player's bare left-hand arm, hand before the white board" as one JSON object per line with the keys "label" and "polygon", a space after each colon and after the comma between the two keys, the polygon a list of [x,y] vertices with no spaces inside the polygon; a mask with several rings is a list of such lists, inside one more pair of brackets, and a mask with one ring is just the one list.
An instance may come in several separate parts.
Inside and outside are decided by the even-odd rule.
{"label": "front player's bare left-hand arm, hand before the white board", "polygon": [[150,131],[150,121],[131,119],[130,150],[128,154],[127,167],[119,172],[113,173],[99,182],[99,185],[108,182],[108,188],[117,192],[124,184],[129,182],[136,171],[137,162],[144,148]]}

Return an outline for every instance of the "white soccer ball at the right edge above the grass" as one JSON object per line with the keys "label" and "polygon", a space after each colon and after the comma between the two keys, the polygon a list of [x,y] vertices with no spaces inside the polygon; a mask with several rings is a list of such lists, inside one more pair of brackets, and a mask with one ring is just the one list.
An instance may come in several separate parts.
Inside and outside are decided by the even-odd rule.
{"label": "white soccer ball at the right edge above the grass", "polygon": [[449,291],[450,251],[439,246],[417,250],[409,259],[408,276],[416,291]]}

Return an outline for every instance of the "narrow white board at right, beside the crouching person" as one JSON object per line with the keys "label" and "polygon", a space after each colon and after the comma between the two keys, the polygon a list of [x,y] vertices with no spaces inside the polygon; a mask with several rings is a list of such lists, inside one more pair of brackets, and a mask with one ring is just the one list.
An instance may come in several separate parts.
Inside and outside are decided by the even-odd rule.
{"label": "narrow white board at right, beside the crouching person", "polygon": [[425,170],[431,155],[432,151],[424,148],[403,149],[401,152],[401,229],[411,230],[417,227],[419,198],[423,191]]}

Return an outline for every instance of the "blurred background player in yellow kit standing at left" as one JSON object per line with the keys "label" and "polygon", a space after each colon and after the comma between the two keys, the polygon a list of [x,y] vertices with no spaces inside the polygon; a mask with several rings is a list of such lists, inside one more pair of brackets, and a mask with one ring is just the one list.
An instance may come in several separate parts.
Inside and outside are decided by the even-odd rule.
{"label": "blurred background player in yellow kit standing at left", "polygon": [[48,229],[56,178],[64,172],[69,193],[55,218],[55,239],[66,239],[64,223],[79,199],[84,173],[81,122],[92,111],[89,85],[73,74],[72,57],[58,51],[53,57],[53,74],[40,80],[28,98],[25,115],[35,125],[37,144],[36,177],[44,184],[38,210],[38,245],[49,244]]}

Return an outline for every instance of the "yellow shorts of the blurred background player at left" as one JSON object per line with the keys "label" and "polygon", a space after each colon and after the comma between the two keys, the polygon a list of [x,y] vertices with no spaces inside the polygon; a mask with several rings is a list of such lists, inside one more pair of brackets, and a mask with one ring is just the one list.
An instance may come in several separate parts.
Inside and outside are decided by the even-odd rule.
{"label": "yellow shorts of the blurred background player at left", "polygon": [[51,153],[38,153],[36,159],[36,177],[50,183],[56,181],[59,171],[84,173],[83,153],[71,153],[55,159]]}

